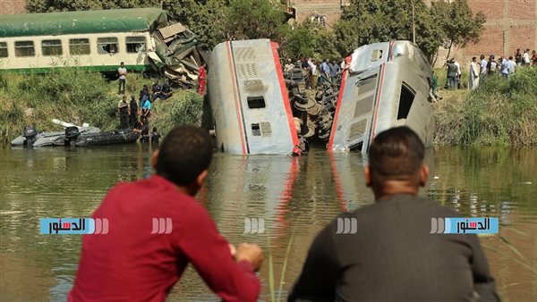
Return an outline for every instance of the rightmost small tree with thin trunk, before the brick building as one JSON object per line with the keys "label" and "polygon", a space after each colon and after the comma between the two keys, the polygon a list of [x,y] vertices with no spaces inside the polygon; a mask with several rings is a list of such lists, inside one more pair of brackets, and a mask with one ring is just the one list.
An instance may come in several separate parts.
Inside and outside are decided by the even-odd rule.
{"label": "rightmost small tree with thin trunk, before the brick building", "polygon": [[449,4],[443,1],[433,2],[430,11],[449,43],[446,58],[449,57],[452,46],[464,47],[468,42],[479,41],[486,17],[482,12],[474,16],[466,0],[455,0]]}

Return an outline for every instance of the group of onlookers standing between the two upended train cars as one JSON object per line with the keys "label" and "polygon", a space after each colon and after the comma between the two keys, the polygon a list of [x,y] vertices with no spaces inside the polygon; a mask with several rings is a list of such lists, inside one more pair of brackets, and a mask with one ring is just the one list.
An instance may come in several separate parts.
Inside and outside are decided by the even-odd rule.
{"label": "group of onlookers standing between the two upended train cars", "polygon": [[341,63],[328,59],[317,61],[311,57],[298,60],[296,63],[287,59],[284,71],[291,72],[295,68],[302,68],[303,76],[306,79],[306,88],[314,89],[322,83],[337,83],[345,69],[345,59],[342,59]]}

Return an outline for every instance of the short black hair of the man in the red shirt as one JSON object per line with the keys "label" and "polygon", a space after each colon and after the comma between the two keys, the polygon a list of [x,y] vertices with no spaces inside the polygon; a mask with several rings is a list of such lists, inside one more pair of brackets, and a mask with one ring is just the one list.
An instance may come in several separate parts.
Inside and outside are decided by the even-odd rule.
{"label": "short black hair of the man in the red shirt", "polygon": [[157,174],[178,186],[188,186],[209,168],[212,146],[209,133],[193,127],[171,130],[159,147]]}

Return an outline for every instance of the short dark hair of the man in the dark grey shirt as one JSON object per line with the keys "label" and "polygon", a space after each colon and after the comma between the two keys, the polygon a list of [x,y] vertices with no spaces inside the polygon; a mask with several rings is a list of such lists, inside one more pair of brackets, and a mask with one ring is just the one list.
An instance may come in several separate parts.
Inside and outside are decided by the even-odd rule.
{"label": "short dark hair of the man in the dark grey shirt", "polygon": [[425,147],[410,128],[396,127],[379,133],[369,152],[371,176],[404,180],[420,171]]}

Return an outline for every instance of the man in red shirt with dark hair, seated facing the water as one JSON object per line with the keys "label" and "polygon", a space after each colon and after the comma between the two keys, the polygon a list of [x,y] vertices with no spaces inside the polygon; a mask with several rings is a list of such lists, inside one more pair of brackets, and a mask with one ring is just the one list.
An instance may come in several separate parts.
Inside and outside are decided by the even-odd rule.
{"label": "man in red shirt with dark hair, seated facing the water", "polygon": [[260,247],[235,251],[194,198],[211,157],[205,131],[172,130],[151,159],[156,175],[108,192],[92,216],[106,218],[108,232],[82,237],[69,301],[164,301],[189,263],[223,300],[257,300]]}

